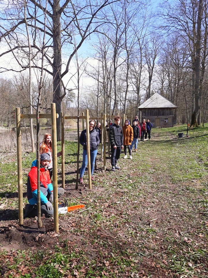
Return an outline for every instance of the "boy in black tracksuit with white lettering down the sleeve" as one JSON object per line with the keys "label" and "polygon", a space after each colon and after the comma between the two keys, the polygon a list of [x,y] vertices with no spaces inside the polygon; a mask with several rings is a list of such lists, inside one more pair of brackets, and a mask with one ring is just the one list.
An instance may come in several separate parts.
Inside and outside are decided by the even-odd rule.
{"label": "boy in black tracksuit with white lettering down the sleeve", "polygon": [[121,149],[123,149],[123,131],[120,127],[120,117],[114,118],[114,124],[110,129],[110,143],[111,143],[111,165],[112,171],[120,170],[116,163],[120,157]]}

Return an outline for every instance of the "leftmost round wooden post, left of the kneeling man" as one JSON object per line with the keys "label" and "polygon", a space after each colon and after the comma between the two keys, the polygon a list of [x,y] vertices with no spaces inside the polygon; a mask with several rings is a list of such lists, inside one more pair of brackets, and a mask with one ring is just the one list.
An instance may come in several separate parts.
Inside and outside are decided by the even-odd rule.
{"label": "leftmost round wooden post, left of the kneeling man", "polygon": [[21,116],[20,116],[19,107],[16,107],[16,140],[17,140],[18,213],[19,213],[19,224],[23,225],[22,145],[21,145]]}

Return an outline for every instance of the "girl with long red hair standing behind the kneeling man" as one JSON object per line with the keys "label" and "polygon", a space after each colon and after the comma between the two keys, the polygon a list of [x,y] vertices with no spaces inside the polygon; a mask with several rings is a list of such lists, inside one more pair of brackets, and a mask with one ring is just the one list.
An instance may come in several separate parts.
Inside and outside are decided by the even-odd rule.
{"label": "girl with long red hair standing behind the kneeling man", "polygon": [[[42,143],[40,143],[40,155],[42,153],[49,153],[50,155],[50,163],[48,165],[48,170],[50,173],[50,178],[52,178],[52,170],[53,170],[53,161],[52,161],[52,140],[51,140],[51,134],[45,133],[44,138],[42,140]],[[62,155],[62,151],[57,153],[57,157]]]}

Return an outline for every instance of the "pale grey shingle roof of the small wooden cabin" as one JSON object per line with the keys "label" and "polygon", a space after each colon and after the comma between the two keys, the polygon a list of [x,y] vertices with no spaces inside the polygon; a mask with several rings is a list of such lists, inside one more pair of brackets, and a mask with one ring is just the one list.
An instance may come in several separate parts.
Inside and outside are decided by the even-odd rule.
{"label": "pale grey shingle roof of the small wooden cabin", "polygon": [[177,108],[177,106],[160,94],[155,93],[139,106],[139,109],[141,108]]}

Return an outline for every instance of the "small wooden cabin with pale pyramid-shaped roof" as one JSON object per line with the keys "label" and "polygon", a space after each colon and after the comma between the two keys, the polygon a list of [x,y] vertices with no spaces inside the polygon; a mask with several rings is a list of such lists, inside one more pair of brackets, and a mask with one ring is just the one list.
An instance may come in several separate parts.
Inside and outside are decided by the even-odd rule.
{"label": "small wooden cabin with pale pyramid-shaped roof", "polygon": [[140,119],[150,119],[153,127],[173,127],[175,108],[176,105],[155,93],[139,106]]}

